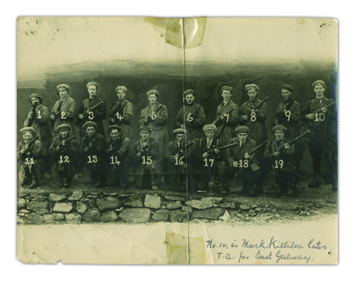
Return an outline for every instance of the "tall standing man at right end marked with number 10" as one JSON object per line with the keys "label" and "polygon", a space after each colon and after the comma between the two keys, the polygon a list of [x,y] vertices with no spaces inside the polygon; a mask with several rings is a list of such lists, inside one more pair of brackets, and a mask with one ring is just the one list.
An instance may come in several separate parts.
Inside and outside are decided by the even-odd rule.
{"label": "tall standing man at right end marked with number 10", "polygon": [[322,80],[313,82],[312,88],[315,99],[302,110],[302,119],[311,131],[307,139],[314,176],[308,187],[319,187],[323,174],[329,175],[333,190],[337,190],[337,109],[333,99],[324,97],[326,86]]}

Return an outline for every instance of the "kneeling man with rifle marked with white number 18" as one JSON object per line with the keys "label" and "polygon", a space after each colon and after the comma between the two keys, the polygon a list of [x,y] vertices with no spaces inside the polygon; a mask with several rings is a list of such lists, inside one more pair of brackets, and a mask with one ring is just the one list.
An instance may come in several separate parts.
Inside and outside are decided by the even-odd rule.
{"label": "kneeling man with rifle marked with white number 18", "polygon": [[237,137],[231,139],[229,143],[236,143],[236,146],[226,151],[225,161],[227,163],[226,175],[228,178],[228,188],[222,191],[245,192],[254,196],[261,192],[261,169],[257,164],[255,154],[258,148],[264,146],[261,143],[256,146],[256,142],[249,138],[249,128],[239,126],[236,128]]}

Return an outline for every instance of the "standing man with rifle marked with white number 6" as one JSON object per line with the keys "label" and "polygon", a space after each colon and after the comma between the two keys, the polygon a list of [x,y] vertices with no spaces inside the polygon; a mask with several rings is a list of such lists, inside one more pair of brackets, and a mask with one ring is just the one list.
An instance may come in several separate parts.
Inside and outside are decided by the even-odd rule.
{"label": "standing man with rifle marked with white number 6", "polygon": [[195,97],[194,90],[186,90],[184,92],[184,106],[180,109],[175,119],[175,127],[177,129],[185,129],[186,138],[190,141],[203,138],[202,127],[206,120],[202,106],[195,103]]}

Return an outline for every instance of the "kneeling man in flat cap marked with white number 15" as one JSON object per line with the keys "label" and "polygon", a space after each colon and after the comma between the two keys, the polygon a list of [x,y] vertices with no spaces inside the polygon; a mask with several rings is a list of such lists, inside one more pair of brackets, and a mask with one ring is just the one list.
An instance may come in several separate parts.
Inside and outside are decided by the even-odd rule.
{"label": "kneeling man in flat cap marked with white number 15", "polygon": [[163,160],[159,155],[158,141],[151,138],[149,126],[140,126],[138,132],[141,139],[134,143],[132,156],[136,163],[133,184],[136,188],[158,190],[163,173]]}

